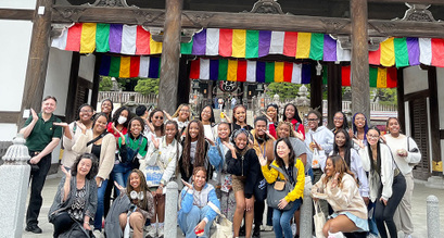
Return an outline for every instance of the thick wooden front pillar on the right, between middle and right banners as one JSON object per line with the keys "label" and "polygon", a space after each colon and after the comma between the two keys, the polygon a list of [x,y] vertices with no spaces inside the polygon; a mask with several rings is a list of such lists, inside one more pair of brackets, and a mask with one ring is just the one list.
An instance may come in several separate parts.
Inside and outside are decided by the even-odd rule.
{"label": "thick wooden front pillar on the right, between middle and right banners", "polygon": [[352,113],[370,118],[367,0],[350,0],[352,20]]}

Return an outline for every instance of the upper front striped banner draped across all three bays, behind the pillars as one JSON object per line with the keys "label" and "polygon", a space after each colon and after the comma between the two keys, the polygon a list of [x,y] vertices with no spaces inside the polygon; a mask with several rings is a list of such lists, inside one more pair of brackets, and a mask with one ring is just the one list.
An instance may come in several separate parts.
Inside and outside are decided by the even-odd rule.
{"label": "upper front striped banner draped across all three bays, behind the pillars", "polygon": [[[113,52],[127,55],[161,54],[162,42],[153,40],[142,26],[76,23],[52,40],[52,47],[80,53]],[[295,59],[351,61],[351,50],[325,34],[205,28],[191,42],[180,45],[182,54],[257,59],[282,54]],[[377,51],[369,51],[369,63],[382,66],[410,66],[420,63],[444,66],[444,39],[388,38]]]}

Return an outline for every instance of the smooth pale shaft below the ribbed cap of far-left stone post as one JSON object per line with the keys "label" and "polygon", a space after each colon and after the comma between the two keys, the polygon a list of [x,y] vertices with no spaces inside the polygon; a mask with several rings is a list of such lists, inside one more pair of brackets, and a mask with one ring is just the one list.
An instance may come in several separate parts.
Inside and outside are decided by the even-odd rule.
{"label": "smooth pale shaft below the ribbed cap of far-left stone post", "polygon": [[30,167],[0,166],[0,238],[22,237]]}

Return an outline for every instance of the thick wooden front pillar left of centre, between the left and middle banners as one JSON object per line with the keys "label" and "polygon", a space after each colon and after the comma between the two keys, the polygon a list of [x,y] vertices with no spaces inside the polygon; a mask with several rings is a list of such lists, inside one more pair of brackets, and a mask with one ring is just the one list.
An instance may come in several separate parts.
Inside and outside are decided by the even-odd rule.
{"label": "thick wooden front pillar left of centre, between the left and middle banners", "polygon": [[180,33],[183,0],[165,1],[158,108],[174,113],[178,102]]}

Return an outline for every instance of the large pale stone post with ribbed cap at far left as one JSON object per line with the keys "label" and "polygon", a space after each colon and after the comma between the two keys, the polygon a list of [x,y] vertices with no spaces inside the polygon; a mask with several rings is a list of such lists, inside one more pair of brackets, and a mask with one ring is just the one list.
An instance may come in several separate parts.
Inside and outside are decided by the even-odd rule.
{"label": "large pale stone post with ribbed cap at far left", "polygon": [[22,237],[30,159],[22,134],[14,138],[0,166],[0,237]]}

